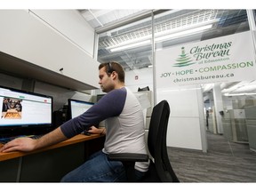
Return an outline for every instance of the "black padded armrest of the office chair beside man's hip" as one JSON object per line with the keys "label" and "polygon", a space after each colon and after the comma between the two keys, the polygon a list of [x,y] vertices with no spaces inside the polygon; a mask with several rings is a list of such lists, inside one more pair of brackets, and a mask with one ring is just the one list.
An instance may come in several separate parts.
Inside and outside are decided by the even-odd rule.
{"label": "black padded armrest of the office chair beside man's hip", "polygon": [[108,160],[121,162],[146,162],[148,161],[148,155],[135,153],[108,154]]}

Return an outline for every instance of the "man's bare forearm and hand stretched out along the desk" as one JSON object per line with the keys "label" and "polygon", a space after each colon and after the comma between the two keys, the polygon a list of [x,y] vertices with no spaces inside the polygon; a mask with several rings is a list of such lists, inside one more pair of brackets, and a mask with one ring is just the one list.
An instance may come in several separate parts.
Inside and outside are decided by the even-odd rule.
{"label": "man's bare forearm and hand stretched out along the desk", "polygon": [[44,148],[68,138],[61,132],[60,127],[45,134],[43,137],[37,140],[31,138],[18,138],[6,143],[3,148],[0,148],[0,152],[11,152],[11,151],[32,151],[38,148]]}

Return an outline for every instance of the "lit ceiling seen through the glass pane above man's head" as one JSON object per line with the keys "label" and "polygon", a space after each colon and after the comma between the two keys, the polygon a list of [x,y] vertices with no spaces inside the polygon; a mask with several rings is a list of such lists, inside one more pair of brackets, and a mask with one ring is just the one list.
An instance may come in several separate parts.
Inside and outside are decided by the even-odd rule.
{"label": "lit ceiling seen through the glass pane above man's head", "polygon": [[116,60],[125,70],[152,65],[151,18],[111,29],[99,36],[98,60]]}

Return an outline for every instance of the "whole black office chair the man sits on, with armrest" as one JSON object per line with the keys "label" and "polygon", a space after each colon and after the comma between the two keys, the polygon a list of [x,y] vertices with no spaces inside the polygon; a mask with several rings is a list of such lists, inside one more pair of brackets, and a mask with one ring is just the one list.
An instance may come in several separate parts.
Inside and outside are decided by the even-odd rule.
{"label": "whole black office chair the man sits on, with armrest", "polygon": [[[170,116],[170,107],[166,100],[159,102],[152,111],[148,131],[148,150],[152,159],[146,176],[140,182],[180,182],[169,161],[166,147],[166,132]],[[135,181],[135,162],[148,161],[148,155],[109,154],[109,161],[121,161],[124,164],[127,181]]]}

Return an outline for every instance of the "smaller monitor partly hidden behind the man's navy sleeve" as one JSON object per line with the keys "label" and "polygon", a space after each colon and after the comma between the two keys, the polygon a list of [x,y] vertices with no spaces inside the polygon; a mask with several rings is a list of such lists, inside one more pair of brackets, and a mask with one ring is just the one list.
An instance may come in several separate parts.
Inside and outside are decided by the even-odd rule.
{"label": "smaller monitor partly hidden behind the man's navy sleeve", "polygon": [[84,100],[73,100],[68,99],[68,117],[69,119],[74,118],[76,116],[80,116],[89,108],[94,105],[92,102],[84,101]]}

